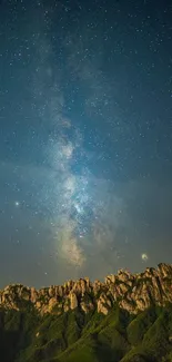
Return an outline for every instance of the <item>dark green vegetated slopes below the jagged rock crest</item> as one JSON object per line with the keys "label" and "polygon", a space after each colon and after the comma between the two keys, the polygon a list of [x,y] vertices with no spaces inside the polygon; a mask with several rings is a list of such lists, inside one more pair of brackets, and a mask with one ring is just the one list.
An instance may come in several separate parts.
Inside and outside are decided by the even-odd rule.
{"label": "dark green vegetated slopes below the jagged rock crest", "polygon": [[0,356],[2,362],[170,362],[172,305],[138,315],[115,306],[107,316],[1,310]]}

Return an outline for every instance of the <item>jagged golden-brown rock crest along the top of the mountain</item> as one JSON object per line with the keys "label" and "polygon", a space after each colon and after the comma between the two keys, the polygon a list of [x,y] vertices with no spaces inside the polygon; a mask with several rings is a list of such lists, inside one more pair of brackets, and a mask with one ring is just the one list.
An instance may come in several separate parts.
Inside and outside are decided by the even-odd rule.
{"label": "jagged golden-brown rock crest along the top of the mountain", "polygon": [[118,275],[108,275],[104,283],[91,283],[85,277],[41,290],[12,284],[0,291],[0,307],[34,306],[41,314],[59,315],[77,307],[84,313],[97,309],[108,314],[114,303],[134,314],[152,304],[172,303],[172,265],[159,264],[156,270],[148,267],[140,274],[120,270]]}

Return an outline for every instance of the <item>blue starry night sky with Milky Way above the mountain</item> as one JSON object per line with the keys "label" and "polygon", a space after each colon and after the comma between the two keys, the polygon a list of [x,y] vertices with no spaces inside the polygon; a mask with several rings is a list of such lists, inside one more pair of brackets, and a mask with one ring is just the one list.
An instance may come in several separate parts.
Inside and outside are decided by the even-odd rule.
{"label": "blue starry night sky with Milky Way above the mountain", "polygon": [[171,255],[171,1],[1,0],[0,287]]}

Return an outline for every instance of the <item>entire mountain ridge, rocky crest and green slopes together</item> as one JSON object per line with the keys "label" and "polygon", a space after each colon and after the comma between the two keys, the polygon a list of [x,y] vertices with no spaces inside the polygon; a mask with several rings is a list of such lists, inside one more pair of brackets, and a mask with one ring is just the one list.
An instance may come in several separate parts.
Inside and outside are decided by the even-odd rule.
{"label": "entire mountain ridge, rocky crest and green slopes together", "polygon": [[0,291],[2,362],[172,361],[172,265]]}

